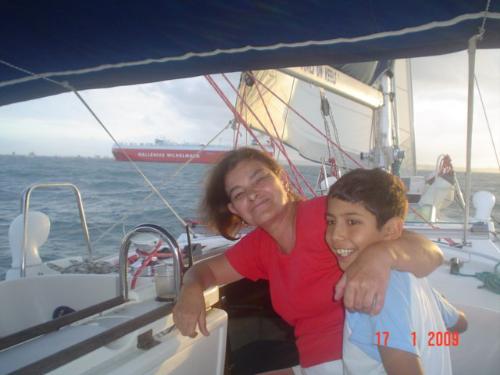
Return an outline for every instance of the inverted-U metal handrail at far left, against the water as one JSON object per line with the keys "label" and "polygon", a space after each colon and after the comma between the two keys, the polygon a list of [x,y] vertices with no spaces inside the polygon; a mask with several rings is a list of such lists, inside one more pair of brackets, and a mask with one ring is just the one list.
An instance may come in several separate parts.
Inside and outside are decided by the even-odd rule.
{"label": "inverted-U metal handrail at far left, against the water", "polygon": [[87,226],[87,220],[85,219],[85,211],[83,210],[82,203],[82,195],[80,191],[76,187],[68,182],[56,182],[56,183],[43,183],[43,184],[34,184],[29,186],[23,193],[21,197],[21,213],[24,215],[24,228],[23,228],[23,243],[21,246],[22,256],[21,256],[21,267],[20,267],[20,276],[21,278],[26,276],[26,245],[28,243],[28,215],[29,215],[29,206],[31,193],[36,189],[47,189],[47,188],[65,188],[68,187],[73,190],[76,196],[76,203],[78,205],[78,211],[80,213],[80,222],[82,225],[83,236],[85,241],[87,242],[88,248],[88,259],[92,260],[92,244],[90,243],[90,235],[89,229]]}

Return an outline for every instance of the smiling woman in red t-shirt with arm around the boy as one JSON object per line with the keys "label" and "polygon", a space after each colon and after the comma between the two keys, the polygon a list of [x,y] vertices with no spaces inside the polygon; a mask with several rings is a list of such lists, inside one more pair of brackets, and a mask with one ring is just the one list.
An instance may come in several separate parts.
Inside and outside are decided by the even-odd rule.
{"label": "smiling woman in red t-shirt with arm around the boy", "polygon": [[[294,327],[303,373],[331,373],[342,354],[344,305],[376,314],[391,268],[424,276],[442,261],[439,248],[413,233],[372,246],[342,276],[325,242],[326,199],[300,200],[286,172],[250,148],[227,153],[212,170],[203,208],[208,223],[235,239],[245,223],[257,227],[225,254],[193,266],[174,308],[183,335],[208,335],[203,291],[244,277],[269,280],[276,312]],[[340,280],[340,281],[339,281]],[[332,288],[337,284],[335,299]]]}

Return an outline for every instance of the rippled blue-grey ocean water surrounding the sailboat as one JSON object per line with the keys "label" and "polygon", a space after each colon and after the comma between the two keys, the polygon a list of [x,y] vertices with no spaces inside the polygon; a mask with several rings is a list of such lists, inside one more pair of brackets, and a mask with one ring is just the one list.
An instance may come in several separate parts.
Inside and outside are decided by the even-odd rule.
{"label": "rippled blue-grey ocean water surrounding the sailboat", "polygon": [[[196,219],[203,180],[210,166],[191,164],[180,171],[180,164],[138,163],[138,166],[180,217]],[[299,169],[311,183],[316,181],[317,167],[299,166]],[[463,182],[463,175],[458,174],[458,178]],[[129,163],[111,159],[0,155],[0,279],[10,267],[8,230],[20,214],[21,195],[32,184],[48,182],[71,182],[80,189],[97,256],[116,253],[123,235],[141,223],[158,224],[175,237],[184,231],[157,196],[147,198],[149,187]],[[472,190],[489,190],[495,194],[493,216],[498,222],[500,174],[474,174]],[[39,251],[44,261],[87,251],[71,190],[36,190],[30,207],[43,211],[51,219],[49,239]]]}

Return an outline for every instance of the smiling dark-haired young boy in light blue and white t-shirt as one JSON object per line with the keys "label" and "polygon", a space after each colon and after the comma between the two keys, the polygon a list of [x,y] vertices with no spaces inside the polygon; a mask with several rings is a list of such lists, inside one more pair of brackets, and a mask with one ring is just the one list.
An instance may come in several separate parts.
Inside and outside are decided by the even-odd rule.
{"label": "smiling dark-haired young boy in light blue and white t-shirt", "polygon": [[[381,169],[345,174],[328,194],[326,241],[346,270],[369,245],[396,239],[408,210],[401,180]],[[346,312],[344,374],[451,374],[449,346],[467,321],[426,279],[392,271],[379,315]],[[447,328],[451,327],[451,328]]]}

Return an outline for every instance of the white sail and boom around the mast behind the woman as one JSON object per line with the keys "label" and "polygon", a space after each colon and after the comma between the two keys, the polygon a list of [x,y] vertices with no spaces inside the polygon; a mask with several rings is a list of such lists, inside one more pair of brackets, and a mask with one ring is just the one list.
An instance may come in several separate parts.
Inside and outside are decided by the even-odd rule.
{"label": "white sail and boom around the mast behind the woman", "polygon": [[[414,165],[411,83],[407,67],[403,60],[396,64],[396,74],[401,78],[395,80],[394,86],[396,97],[402,98],[395,100],[393,111],[397,123],[404,124],[399,139],[410,157],[405,168],[406,164]],[[369,69],[373,73],[373,65]],[[374,109],[384,105],[380,90],[331,67],[264,70],[253,75],[254,80],[248,79],[249,76],[242,80],[237,102],[243,119],[252,128],[269,132],[309,160],[319,162],[335,157],[337,163],[347,169],[379,166],[368,155],[374,145]],[[326,133],[321,112],[320,90],[323,89],[330,105],[331,116],[326,116],[330,133],[335,133],[335,126],[338,134],[339,144],[333,150],[328,149],[322,135]],[[332,141],[337,143],[335,138]],[[364,160],[361,155],[365,156]]]}

